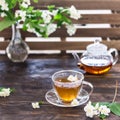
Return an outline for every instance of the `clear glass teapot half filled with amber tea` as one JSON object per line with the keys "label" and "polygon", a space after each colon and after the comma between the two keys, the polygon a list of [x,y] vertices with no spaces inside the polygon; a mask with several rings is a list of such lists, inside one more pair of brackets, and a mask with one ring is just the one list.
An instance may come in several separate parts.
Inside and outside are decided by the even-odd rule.
{"label": "clear glass teapot half filled with amber tea", "polygon": [[86,51],[78,56],[72,53],[80,69],[90,74],[104,74],[118,61],[118,52],[115,48],[107,50],[107,46],[95,40],[87,46]]}

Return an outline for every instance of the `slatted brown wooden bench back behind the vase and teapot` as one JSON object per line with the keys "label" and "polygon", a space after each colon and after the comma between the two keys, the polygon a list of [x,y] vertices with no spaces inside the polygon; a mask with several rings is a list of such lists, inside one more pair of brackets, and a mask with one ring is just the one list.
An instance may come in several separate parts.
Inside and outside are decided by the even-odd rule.
{"label": "slatted brown wooden bench back behind the vase and teapot", "polygon": [[[41,41],[41,38],[38,38],[38,42],[27,41],[31,51],[60,50],[65,53],[66,50],[85,50],[86,46],[92,43],[96,37],[100,37],[108,47],[115,47],[120,50],[120,0],[39,0],[39,4],[33,3],[33,5],[39,9],[46,9],[48,5],[56,5],[57,7],[74,5],[80,10],[82,18],[74,21],[78,29],[76,34],[70,37],[70,41],[66,40],[69,37],[66,30],[61,28],[49,37],[55,39],[59,37],[59,41],[47,41],[46,39]],[[105,26],[106,24],[107,26]],[[11,39],[11,28],[0,32],[0,37],[5,39],[5,41],[0,42],[0,49],[5,50]],[[22,37],[26,39],[36,36],[22,31]],[[76,37],[78,41],[76,41]],[[92,41],[89,41],[89,38]]]}

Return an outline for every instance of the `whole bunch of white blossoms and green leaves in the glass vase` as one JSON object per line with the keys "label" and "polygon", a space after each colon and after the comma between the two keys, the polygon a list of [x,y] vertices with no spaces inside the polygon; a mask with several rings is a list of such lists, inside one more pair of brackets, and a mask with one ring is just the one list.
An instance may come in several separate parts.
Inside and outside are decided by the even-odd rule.
{"label": "whole bunch of white blossoms and green leaves in the glass vase", "polygon": [[[38,0],[33,0],[38,2]],[[15,8],[18,10],[14,10]],[[48,6],[48,10],[35,9],[30,0],[1,0],[0,1],[0,31],[12,24],[22,24],[22,29],[36,34],[38,37],[48,37],[58,28],[64,26],[67,33],[72,36],[76,27],[72,20],[81,18],[80,13],[71,6],[70,8]],[[19,26],[18,26],[19,27]]]}

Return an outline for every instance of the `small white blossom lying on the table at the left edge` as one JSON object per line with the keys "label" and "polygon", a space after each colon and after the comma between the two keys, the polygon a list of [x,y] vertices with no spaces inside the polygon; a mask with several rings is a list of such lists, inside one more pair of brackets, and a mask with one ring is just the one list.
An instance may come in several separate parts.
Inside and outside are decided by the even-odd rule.
{"label": "small white blossom lying on the table at the left edge", "polygon": [[15,89],[11,88],[0,88],[0,97],[7,97],[10,96],[10,93],[13,92]]}

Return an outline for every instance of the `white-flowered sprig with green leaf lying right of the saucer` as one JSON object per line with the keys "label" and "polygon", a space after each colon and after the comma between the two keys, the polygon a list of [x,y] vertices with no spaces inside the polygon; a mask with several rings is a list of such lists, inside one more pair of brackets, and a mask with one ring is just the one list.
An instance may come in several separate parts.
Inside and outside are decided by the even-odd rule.
{"label": "white-flowered sprig with green leaf lying right of the saucer", "polygon": [[104,120],[112,112],[113,114],[120,116],[120,103],[117,102],[97,102],[92,103],[89,101],[84,107],[86,116],[93,118],[98,116],[100,119]]}

